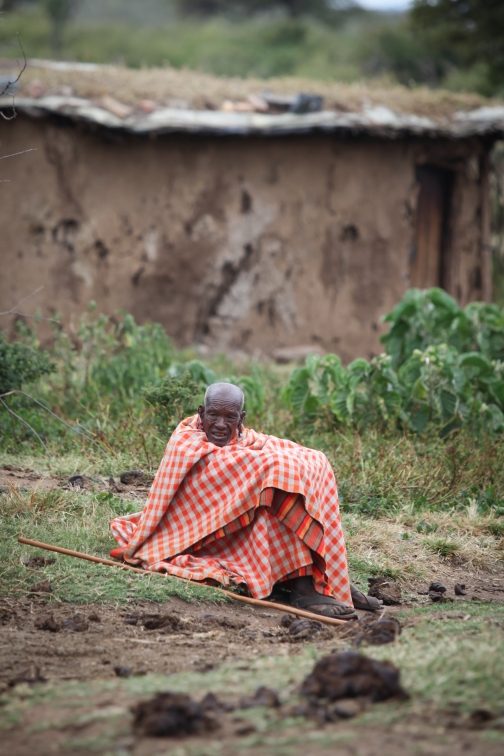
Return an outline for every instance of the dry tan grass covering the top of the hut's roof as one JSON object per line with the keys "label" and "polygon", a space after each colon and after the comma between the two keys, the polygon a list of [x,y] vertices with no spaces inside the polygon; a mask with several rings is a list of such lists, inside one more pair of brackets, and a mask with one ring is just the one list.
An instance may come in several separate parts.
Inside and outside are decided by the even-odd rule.
{"label": "dry tan grass covering the top of the hut's roof", "polygon": [[[0,62],[0,70],[10,70],[12,61]],[[458,110],[471,110],[494,101],[476,94],[431,90],[427,87],[408,89],[380,84],[342,84],[301,78],[227,78],[174,68],[135,70],[123,66],[103,65],[95,71],[53,71],[30,64],[21,80],[21,94],[30,84],[41,81],[47,93],[62,93],[71,87],[74,94],[90,99],[109,95],[128,105],[153,100],[159,105],[173,105],[183,100],[195,109],[219,109],[224,100],[244,100],[249,95],[271,89],[278,94],[316,92],[325,98],[325,107],[336,111],[361,111],[363,107],[386,105],[396,112],[446,119]]]}

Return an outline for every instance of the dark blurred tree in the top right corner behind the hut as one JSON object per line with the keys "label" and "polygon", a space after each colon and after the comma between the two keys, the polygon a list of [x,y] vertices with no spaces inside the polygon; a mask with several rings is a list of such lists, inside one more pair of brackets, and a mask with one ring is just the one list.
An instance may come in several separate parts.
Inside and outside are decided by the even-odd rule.
{"label": "dark blurred tree in the top right corner behind the hut", "polygon": [[433,58],[463,67],[483,63],[491,89],[502,88],[503,0],[415,0],[410,21]]}

